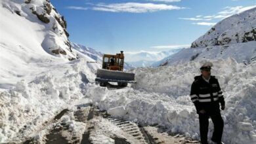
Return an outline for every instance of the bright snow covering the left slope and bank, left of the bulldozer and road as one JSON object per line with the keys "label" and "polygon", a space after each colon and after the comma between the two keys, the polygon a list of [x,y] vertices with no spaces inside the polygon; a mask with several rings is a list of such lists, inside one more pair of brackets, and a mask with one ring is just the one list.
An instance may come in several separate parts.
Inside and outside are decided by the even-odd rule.
{"label": "bright snow covering the left slope and bank, left of the bulldozer and road", "polygon": [[[86,84],[94,81],[100,67],[98,63],[87,63],[89,58],[69,62],[49,54],[42,46],[51,33],[45,29],[47,25],[26,11],[28,6],[18,16],[10,10],[20,5],[13,1],[1,4],[5,7],[0,7],[0,143],[28,137],[43,122],[81,100]],[[56,43],[62,41],[62,36],[51,34]]]}

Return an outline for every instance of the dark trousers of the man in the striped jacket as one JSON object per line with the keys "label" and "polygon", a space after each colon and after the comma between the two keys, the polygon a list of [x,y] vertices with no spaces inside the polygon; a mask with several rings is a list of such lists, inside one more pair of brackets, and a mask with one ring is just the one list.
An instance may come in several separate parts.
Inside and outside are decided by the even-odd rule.
{"label": "dark trousers of the man in the striped jacket", "polygon": [[219,110],[219,103],[218,105],[209,104],[207,105],[207,107],[209,108],[205,109],[206,113],[204,114],[199,113],[201,143],[202,144],[207,143],[209,117],[211,117],[211,120],[213,121],[213,125],[214,125],[213,136],[211,139],[215,142],[221,142],[221,137],[223,135],[224,122],[223,122],[223,118],[221,117],[221,111]]}

